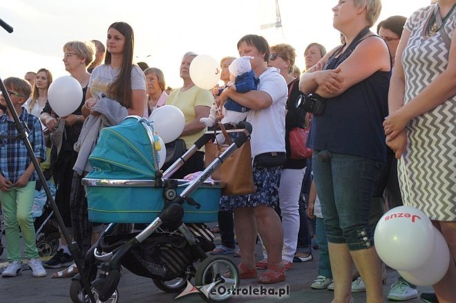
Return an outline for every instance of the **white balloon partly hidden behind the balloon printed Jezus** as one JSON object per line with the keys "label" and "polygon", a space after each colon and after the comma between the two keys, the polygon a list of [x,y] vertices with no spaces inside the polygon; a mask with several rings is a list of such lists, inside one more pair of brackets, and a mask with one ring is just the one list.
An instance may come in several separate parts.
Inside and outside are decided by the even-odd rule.
{"label": "white balloon partly hidden behind the balloon printed Jezus", "polygon": [[444,277],[450,265],[450,250],[444,236],[441,235],[437,228],[435,231],[435,246],[434,251],[430,255],[428,261],[424,262],[424,266],[410,271],[399,270],[401,275],[408,282],[418,286],[434,285]]}

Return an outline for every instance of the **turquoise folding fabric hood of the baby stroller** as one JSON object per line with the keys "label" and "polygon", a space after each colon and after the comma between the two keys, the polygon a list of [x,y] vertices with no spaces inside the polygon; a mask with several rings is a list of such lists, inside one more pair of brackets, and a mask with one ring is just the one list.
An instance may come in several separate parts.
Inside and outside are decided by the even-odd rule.
{"label": "turquoise folding fabric hood of the baby stroller", "polygon": [[88,157],[93,171],[86,178],[155,179],[155,149],[145,127],[153,134],[153,127],[143,125],[140,117],[129,116],[119,125],[102,129],[98,143]]}

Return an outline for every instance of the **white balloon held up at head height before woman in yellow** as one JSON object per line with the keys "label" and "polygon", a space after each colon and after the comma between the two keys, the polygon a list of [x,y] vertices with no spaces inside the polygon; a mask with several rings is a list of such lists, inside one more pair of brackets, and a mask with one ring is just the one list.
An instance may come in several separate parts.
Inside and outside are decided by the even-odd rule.
{"label": "white balloon held up at head height before woman in yellow", "polygon": [[220,80],[220,65],[209,55],[198,55],[191,61],[190,78],[200,89],[212,89]]}

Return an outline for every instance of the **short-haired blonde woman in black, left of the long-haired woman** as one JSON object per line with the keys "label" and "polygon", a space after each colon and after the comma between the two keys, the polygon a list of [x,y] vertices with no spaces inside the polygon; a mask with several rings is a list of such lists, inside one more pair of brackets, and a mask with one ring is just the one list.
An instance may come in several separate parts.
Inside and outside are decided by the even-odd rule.
{"label": "short-haired blonde woman in black, left of the long-haired woman", "polygon": [[[58,132],[61,147],[57,150],[57,147],[53,145],[50,152],[50,163],[57,187],[55,203],[57,208],[59,208],[66,228],[70,229],[72,227],[70,193],[73,181],[73,166],[77,158],[77,152],[75,152],[73,146],[77,142],[77,138],[79,138],[85,120],[84,116],[82,116],[82,106],[85,102],[88,80],[91,78],[91,74],[87,71],[87,66],[93,61],[95,46],[92,42],[71,41],[64,45],[63,51],[64,57],[62,61],[64,62],[66,71],[81,85],[83,93],[81,104],[68,116],[59,117],[50,107],[49,102],[47,102],[41,113],[41,122],[50,131],[55,131],[63,127],[61,129],[62,131]],[[61,102],[64,102],[64,100],[61,100]],[[63,125],[59,126],[60,123]],[[69,232],[70,239],[73,237],[73,234],[75,234],[75,231]],[[66,240],[62,234],[60,239],[61,246],[59,246],[60,249],[57,250],[57,254],[46,262],[46,267],[48,268],[59,268],[73,264],[73,256],[70,250],[68,250]]]}

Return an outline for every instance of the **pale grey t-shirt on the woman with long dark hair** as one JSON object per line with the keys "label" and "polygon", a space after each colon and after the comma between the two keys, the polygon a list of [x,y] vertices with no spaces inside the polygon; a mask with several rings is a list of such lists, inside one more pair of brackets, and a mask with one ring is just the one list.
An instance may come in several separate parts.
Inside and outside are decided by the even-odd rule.
{"label": "pale grey t-shirt on the woman with long dark hair", "polygon": [[[108,85],[113,82],[119,68],[113,69],[109,64],[102,64],[95,67],[92,71],[91,80],[88,82],[88,88],[91,90],[91,95],[97,97],[99,93],[106,93]],[[146,77],[139,66],[133,65],[131,68],[131,90],[146,91]],[[144,98],[144,114],[143,117],[147,118],[149,112],[147,111],[147,100]]]}

